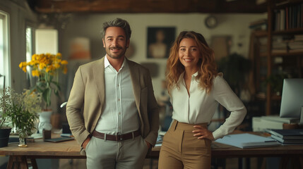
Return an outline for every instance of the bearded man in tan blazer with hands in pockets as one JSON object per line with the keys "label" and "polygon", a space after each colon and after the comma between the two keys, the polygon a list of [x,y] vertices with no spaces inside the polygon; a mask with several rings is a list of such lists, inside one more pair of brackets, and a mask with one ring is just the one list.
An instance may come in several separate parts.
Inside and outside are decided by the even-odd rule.
{"label": "bearded man in tan blazer with hands in pockets", "polygon": [[88,169],[143,168],[159,127],[150,73],[124,55],[131,37],[126,20],[104,23],[102,35],[106,56],[75,75],[66,106],[71,132]]}

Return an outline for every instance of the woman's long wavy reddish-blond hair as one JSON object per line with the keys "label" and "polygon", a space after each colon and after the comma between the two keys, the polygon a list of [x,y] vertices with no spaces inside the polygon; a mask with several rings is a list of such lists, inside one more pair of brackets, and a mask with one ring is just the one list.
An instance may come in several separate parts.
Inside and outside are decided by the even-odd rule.
{"label": "woman's long wavy reddish-blond hair", "polygon": [[170,90],[173,87],[179,89],[177,84],[179,76],[184,72],[184,65],[179,61],[179,45],[182,39],[191,38],[196,42],[198,49],[201,53],[201,58],[198,61],[198,81],[199,87],[201,89],[206,89],[206,92],[209,93],[213,86],[213,78],[218,75],[217,65],[215,63],[215,55],[213,49],[210,49],[203,35],[196,33],[194,31],[183,31],[180,32],[177,39],[174,41],[170,49],[170,56],[167,59],[166,66],[166,81],[167,89],[170,93]]}

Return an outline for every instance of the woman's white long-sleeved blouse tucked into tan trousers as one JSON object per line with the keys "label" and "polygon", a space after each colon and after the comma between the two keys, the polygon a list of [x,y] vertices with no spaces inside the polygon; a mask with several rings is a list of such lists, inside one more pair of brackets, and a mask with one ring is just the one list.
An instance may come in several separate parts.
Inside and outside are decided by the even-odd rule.
{"label": "woman's white long-sleeved blouse tucked into tan trousers", "polygon": [[221,104],[231,113],[225,123],[213,132],[213,137],[219,139],[242,123],[246,115],[246,108],[223,77],[218,75],[214,78],[213,87],[207,94],[205,89],[198,87],[197,75],[198,73],[194,73],[191,77],[189,94],[184,82],[184,73],[178,80],[179,89],[174,87],[171,90],[172,118],[188,124],[210,123],[218,104]]}

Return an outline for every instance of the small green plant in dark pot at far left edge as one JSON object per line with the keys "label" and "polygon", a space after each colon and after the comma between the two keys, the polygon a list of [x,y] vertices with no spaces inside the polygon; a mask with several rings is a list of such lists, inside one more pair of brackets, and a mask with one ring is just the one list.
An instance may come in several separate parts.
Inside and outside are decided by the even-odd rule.
{"label": "small green plant in dark pot at far left edge", "polygon": [[8,113],[8,106],[11,105],[11,94],[8,88],[4,88],[0,93],[0,147],[8,145],[9,134],[11,133],[11,123]]}

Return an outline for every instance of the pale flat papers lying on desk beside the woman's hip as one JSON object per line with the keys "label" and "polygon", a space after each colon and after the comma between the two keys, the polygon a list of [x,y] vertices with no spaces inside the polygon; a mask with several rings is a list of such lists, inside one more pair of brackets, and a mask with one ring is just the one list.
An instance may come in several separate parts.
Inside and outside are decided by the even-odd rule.
{"label": "pale flat papers lying on desk beside the woman's hip", "polygon": [[226,135],[222,139],[215,140],[215,142],[237,146],[241,149],[280,145],[280,143],[271,137],[262,137],[249,133]]}

